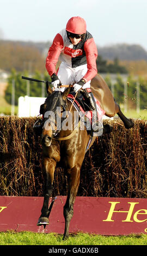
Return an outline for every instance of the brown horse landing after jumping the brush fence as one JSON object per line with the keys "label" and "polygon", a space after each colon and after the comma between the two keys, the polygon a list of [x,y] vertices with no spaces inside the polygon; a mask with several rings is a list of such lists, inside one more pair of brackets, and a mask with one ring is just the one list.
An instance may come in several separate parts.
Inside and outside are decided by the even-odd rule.
{"label": "brown horse landing after jumping the brush fence", "polygon": [[[97,100],[100,101],[101,107],[105,110],[108,117],[113,117],[117,113],[126,128],[133,127],[132,120],[127,119],[122,114],[106,82],[100,75],[97,75],[91,81],[91,90],[94,96],[97,97]],[[43,224],[45,226],[49,223],[48,202],[53,191],[54,171],[57,162],[59,162],[60,166],[64,167],[65,175],[68,178],[68,195],[64,205],[65,230],[63,239],[65,239],[65,237],[69,236],[69,225],[74,212],[73,207],[79,186],[80,170],[90,135],[86,129],[79,129],[79,125],[76,129],[73,126],[75,109],[74,107],[71,108],[72,103],[66,99],[70,92],[70,87],[66,88],[63,93],[60,91],[52,92],[50,87],[48,87],[47,92],[47,99],[44,105],[41,106],[41,114],[44,115],[44,127],[42,129],[41,141],[43,156],[42,169],[45,173],[45,194],[38,225]],[[73,126],[70,130],[59,130],[58,135],[56,135],[57,123],[55,121],[59,115],[57,107],[61,109],[61,120],[64,120],[62,113],[65,112],[65,110],[69,111],[71,108],[71,123]],[[55,119],[51,117],[52,112],[54,113]],[[46,113],[48,113],[48,116]]]}

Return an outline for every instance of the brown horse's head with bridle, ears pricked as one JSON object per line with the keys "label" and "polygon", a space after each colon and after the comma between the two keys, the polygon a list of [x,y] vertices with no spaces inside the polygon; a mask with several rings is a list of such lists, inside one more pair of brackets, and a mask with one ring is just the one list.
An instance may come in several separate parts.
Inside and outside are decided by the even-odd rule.
{"label": "brown horse's head with bridle, ears pricked", "polygon": [[[40,114],[44,116],[44,126],[42,127],[42,145],[50,147],[52,137],[59,132],[59,120],[61,120],[62,112],[65,111],[67,106],[66,97],[70,92],[70,87],[66,88],[62,93],[60,90],[52,92],[51,88],[48,87],[48,96],[45,103],[40,106]],[[58,122],[57,122],[58,120]]]}

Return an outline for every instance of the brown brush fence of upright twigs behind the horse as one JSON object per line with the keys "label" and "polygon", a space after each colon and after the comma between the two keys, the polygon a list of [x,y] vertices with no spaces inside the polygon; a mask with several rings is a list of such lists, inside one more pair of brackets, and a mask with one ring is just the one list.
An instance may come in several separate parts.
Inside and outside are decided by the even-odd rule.
{"label": "brown brush fence of upright twigs behind the horse", "polygon": [[[36,118],[0,118],[0,195],[42,196],[41,144],[33,133]],[[120,120],[96,139],[85,155],[78,196],[147,197],[147,121],[131,130]],[[56,168],[54,195],[66,195],[64,170]]]}

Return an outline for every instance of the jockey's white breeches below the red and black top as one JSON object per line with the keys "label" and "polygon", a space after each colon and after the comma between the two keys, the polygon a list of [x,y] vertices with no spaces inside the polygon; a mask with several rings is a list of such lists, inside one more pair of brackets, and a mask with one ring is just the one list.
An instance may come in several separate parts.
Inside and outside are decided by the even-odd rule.
{"label": "jockey's white breeches below the red and black top", "polygon": [[[71,68],[68,64],[62,62],[58,69],[58,78],[60,82],[64,84],[75,84],[79,82],[83,78],[83,76],[87,73],[87,64],[77,66],[76,68]],[[90,88],[90,81],[84,84],[82,87]],[[64,92],[65,87],[62,87],[62,92]]]}

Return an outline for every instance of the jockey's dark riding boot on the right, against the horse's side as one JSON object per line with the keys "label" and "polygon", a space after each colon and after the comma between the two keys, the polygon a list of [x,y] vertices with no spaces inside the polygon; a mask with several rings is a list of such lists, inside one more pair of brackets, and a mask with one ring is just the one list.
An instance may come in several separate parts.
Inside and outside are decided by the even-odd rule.
{"label": "jockey's dark riding boot on the right, against the horse's side", "polygon": [[92,111],[92,115],[93,115],[92,130],[93,130],[93,132],[98,132],[98,131],[100,131],[100,127],[102,128],[102,124],[99,122],[99,118],[97,116],[97,108],[96,108],[96,102],[94,99],[94,95],[91,92],[90,88],[85,88],[85,89],[83,89],[83,91],[84,91],[84,96],[86,96],[89,101],[89,107],[90,107],[90,110]]}

